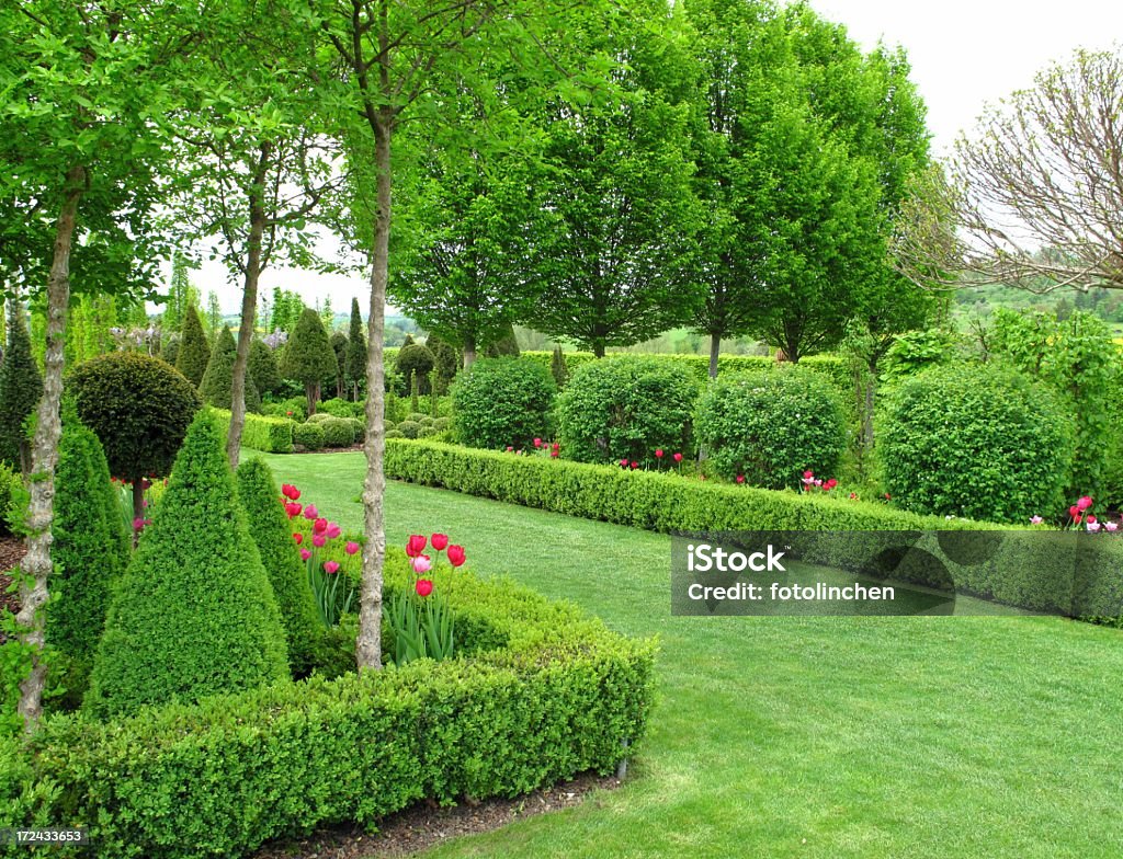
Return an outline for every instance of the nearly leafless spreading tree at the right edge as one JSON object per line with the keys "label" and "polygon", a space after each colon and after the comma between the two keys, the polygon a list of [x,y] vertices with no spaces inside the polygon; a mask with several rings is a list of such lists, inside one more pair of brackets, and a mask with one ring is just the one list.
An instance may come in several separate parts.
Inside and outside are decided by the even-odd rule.
{"label": "nearly leafless spreading tree at the right edge", "polygon": [[1038,74],[914,183],[894,250],[915,283],[1123,289],[1123,55]]}

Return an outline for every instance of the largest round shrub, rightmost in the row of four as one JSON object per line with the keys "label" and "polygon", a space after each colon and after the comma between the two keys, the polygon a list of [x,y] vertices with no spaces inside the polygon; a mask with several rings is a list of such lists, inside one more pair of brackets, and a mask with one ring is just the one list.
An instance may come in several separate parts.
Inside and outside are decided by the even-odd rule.
{"label": "largest round shrub, rightmost in the row of four", "polygon": [[885,488],[907,510],[993,521],[1066,507],[1072,428],[1053,396],[993,366],[938,368],[886,398]]}

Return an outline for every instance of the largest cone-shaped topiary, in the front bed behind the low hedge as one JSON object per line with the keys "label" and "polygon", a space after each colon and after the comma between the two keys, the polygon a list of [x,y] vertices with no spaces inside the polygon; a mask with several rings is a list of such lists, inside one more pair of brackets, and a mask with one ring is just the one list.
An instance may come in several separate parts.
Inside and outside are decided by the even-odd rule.
{"label": "largest cone-shaped topiary, in the front bed behind the low hedge", "polygon": [[285,680],[281,613],[209,412],[192,422],[152,518],[109,609],[84,705],[108,717]]}

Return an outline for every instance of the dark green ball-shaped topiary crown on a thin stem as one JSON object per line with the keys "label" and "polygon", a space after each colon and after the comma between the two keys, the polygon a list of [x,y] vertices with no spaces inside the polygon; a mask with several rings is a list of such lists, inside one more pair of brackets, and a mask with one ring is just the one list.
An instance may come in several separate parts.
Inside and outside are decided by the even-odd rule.
{"label": "dark green ball-shaped topiary crown on a thin stem", "polygon": [[202,405],[182,373],[139,352],[110,352],[86,361],[74,368],[66,388],[76,398],[82,423],[101,440],[109,470],[129,482],[171,471]]}

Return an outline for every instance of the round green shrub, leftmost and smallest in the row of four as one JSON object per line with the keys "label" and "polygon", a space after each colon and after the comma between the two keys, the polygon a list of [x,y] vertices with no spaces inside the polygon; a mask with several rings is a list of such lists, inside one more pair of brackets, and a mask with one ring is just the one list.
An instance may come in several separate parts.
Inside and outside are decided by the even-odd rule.
{"label": "round green shrub, leftmost and smallest in the row of four", "polygon": [[456,437],[473,447],[523,447],[550,435],[557,387],[529,358],[482,358],[453,386]]}

